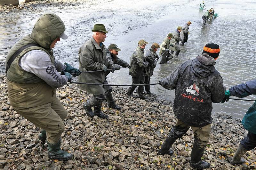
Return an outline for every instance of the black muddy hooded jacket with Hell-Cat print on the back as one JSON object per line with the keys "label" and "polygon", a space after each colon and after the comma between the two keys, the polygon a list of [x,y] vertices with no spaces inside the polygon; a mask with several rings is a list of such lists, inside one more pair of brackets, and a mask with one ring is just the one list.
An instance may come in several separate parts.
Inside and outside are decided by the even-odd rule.
{"label": "black muddy hooded jacket with Hell-Cat print on the back", "polygon": [[184,62],[159,82],[165,89],[176,89],[174,114],[190,126],[212,123],[212,102],[220,103],[225,96],[226,88],[214,65],[212,57],[201,54]]}

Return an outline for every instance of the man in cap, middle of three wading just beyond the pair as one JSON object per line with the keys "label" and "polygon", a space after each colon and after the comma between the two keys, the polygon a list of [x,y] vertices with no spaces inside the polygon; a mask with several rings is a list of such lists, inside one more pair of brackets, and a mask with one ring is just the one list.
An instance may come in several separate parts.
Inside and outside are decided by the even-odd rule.
{"label": "man in cap, middle of three wading just beyond the pair", "polygon": [[171,53],[173,54],[174,51],[175,55],[179,55],[180,53],[180,46],[179,46],[179,41],[181,41],[180,39],[180,32],[181,32],[181,26],[178,26],[177,29],[172,33],[172,38],[170,40],[170,45],[171,47]]}

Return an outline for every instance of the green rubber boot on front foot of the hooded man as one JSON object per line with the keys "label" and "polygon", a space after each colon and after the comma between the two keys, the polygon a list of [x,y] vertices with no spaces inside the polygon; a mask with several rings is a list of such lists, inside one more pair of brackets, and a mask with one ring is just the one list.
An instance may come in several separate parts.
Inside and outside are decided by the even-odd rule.
{"label": "green rubber boot on front foot of the hooded man", "polygon": [[48,141],[48,155],[51,159],[57,159],[57,160],[71,160],[73,159],[73,155],[71,153],[65,152],[60,149],[60,140],[56,144],[51,144]]}

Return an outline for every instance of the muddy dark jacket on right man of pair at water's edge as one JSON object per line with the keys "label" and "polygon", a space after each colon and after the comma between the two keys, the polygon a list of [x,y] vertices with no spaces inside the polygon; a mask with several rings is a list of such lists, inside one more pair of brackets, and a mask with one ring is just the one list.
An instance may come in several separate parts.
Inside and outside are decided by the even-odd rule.
{"label": "muddy dark jacket on right man of pair at water's edge", "polygon": [[157,53],[150,47],[146,50],[144,53],[146,61],[148,61],[148,67],[145,68],[145,74],[146,76],[152,76],[154,68],[156,67],[156,59],[159,59]]}

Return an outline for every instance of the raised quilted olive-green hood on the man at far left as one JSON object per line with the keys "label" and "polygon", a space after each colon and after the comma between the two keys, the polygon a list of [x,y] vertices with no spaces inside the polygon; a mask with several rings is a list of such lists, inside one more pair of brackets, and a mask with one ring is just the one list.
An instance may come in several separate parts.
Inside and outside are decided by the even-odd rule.
{"label": "raised quilted olive-green hood on the man at far left", "polygon": [[37,19],[29,37],[40,46],[50,49],[52,42],[65,31],[63,21],[54,13],[47,12]]}

